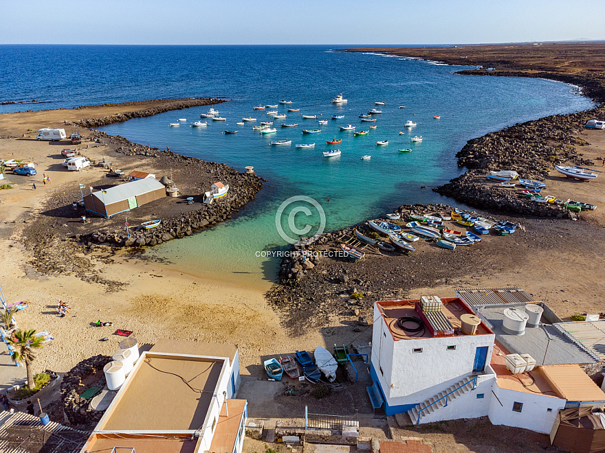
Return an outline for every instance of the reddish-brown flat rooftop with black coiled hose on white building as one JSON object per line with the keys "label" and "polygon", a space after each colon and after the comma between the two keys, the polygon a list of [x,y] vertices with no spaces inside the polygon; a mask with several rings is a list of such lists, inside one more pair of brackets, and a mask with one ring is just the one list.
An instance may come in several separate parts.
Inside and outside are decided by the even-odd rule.
{"label": "reddish-brown flat rooftop with black coiled hose on white building", "polygon": [[[386,325],[395,341],[414,340],[417,338],[434,338],[427,328],[425,328],[423,332],[413,334],[404,329],[401,329],[401,327],[399,327],[397,323],[397,319],[401,318],[402,316],[410,316],[420,319],[417,312],[414,310],[416,303],[419,302],[420,299],[376,302],[376,305],[382,312],[384,321],[386,322]],[[466,336],[462,333],[462,323],[460,321],[460,316],[466,313],[474,314],[474,312],[459,297],[441,298],[441,302],[443,302],[443,308],[441,312],[443,313],[443,315],[445,315],[445,318],[447,318],[448,321],[450,321],[450,323],[454,327],[453,336]],[[406,323],[405,325],[410,325],[410,327],[416,327],[414,324],[411,323]],[[486,334],[493,334],[493,332],[489,330],[489,327],[487,327],[487,325],[485,325],[482,321],[481,324],[477,326],[476,335]]]}

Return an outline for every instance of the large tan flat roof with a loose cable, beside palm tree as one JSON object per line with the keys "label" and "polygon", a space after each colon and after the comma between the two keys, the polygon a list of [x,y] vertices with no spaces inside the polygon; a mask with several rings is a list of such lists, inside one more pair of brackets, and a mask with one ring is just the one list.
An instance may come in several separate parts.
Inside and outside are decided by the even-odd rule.
{"label": "large tan flat roof with a loose cable, beside palm tree", "polygon": [[151,351],[144,357],[120,388],[97,430],[165,432],[200,428],[224,360]]}

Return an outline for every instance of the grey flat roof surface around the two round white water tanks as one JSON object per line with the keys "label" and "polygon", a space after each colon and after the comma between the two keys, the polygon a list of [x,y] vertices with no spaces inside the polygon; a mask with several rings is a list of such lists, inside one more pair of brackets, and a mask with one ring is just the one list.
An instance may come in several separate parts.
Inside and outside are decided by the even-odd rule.
{"label": "grey flat roof surface around the two round white water tanks", "polygon": [[502,329],[502,308],[485,308],[478,312],[478,315],[487,321],[487,325],[496,334],[496,340],[506,349],[512,353],[529,354],[536,359],[538,365],[597,362],[553,325],[526,327],[525,334],[510,335]]}

